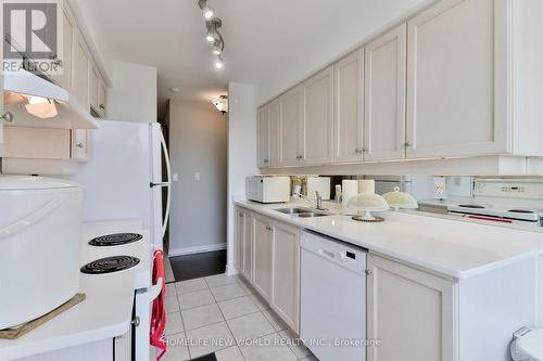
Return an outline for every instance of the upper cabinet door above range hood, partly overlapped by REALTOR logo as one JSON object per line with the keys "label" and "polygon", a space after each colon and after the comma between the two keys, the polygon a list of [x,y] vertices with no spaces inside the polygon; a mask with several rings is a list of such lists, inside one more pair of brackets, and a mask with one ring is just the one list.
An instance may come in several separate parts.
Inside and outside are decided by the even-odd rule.
{"label": "upper cabinet door above range hood, partly overlapped by REALTOR logo", "polygon": [[59,74],[53,76],[53,80],[56,81],[60,87],[66,89],[67,91],[72,91],[72,47],[74,44],[74,23],[65,7],[67,5],[59,2],[58,16],[59,18],[62,18],[62,22],[60,23],[62,26],[62,42],[59,44],[59,54],[55,59],[55,65],[59,67]]}

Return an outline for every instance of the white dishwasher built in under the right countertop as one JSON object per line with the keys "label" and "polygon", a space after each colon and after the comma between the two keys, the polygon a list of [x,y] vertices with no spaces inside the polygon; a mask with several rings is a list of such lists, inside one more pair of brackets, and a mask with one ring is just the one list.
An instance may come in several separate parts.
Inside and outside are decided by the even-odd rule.
{"label": "white dishwasher built in under the right countertop", "polygon": [[319,361],[366,360],[366,250],[302,232],[300,336]]}

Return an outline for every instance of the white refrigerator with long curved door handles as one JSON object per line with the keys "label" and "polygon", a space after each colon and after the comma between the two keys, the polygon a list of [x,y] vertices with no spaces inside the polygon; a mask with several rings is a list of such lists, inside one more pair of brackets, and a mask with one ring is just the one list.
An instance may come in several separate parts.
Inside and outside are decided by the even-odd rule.
{"label": "white refrigerator with long curved door handles", "polygon": [[[101,120],[100,129],[92,131],[91,144],[91,159],[70,178],[87,188],[84,221],[140,219],[150,231],[151,243],[162,249],[172,172],[161,125]],[[167,190],[164,208],[163,189]]]}

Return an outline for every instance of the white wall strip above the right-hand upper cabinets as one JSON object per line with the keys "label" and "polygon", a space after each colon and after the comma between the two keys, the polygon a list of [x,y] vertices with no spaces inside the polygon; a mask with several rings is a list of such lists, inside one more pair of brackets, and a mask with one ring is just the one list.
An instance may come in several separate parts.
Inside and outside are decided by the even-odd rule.
{"label": "white wall strip above the right-hand upper cabinets", "polygon": [[[281,59],[274,72],[267,72],[255,83],[255,104],[262,105],[332,64],[341,55],[361,47],[384,29],[405,20],[435,0],[364,0],[350,1],[315,28],[307,41]],[[303,23],[303,21],[302,21]],[[266,56],[273,56],[267,54]]]}

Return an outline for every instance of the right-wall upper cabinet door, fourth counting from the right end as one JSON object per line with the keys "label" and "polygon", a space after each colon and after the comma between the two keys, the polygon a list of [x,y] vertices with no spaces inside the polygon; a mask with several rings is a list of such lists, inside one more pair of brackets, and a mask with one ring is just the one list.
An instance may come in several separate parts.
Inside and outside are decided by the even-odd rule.
{"label": "right-wall upper cabinet door, fourth counting from the right end", "polygon": [[333,153],[333,67],[303,83],[303,164],[329,164]]}

